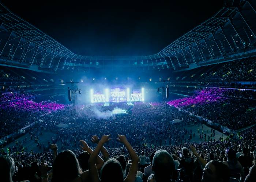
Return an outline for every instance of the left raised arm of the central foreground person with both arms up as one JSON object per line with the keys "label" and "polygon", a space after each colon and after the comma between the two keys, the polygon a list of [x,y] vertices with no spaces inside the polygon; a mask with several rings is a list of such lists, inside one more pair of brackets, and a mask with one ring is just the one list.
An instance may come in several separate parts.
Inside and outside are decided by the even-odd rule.
{"label": "left raised arm of the central foreground person with both arms up", "polygon": [[90,170],[90,175],[91,175],[91,181],[93,181],[93,182],[100,182],[99,173],[98,173],[95,163],[97,161],[97,156],[99,155],[99,151],[101,150],[101,147],[104,145],[104,143],[111,140],[111,138],[109,138],[109,137],[110,137],[110,135],[103,135],[101,137],[101,140],[99,141],[98,145],[94,149],[93,153],[91,153],[91,156],[89,158],[89,161],[88,161],[89,170]]}

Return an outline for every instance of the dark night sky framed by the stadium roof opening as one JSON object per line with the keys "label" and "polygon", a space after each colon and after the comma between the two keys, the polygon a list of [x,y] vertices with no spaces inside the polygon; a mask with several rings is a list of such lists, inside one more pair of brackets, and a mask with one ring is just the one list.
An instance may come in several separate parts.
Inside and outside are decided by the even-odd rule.
{"label": "dark night sky framed by the stadium roof opening", "polygon": [[1,2],[86,56],[156,54],[223,6],[223,0]]}

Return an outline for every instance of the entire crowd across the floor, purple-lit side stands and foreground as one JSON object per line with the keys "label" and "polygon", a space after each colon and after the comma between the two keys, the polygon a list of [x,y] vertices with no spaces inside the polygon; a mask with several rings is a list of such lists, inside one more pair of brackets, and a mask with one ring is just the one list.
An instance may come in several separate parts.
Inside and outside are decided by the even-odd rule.
{"label": "entire crowd across the floor, purple-lit side stands and foreground", "polygon": [[[248,109],[250,103],[207,95],[231,94],[226,90],[198,92],[202,94],[168,104],[137,102],[127,106],[126,103],[113,103],[106,107],[88,104],[77,106],[76,112],[72,107],[49,101],[36,103],[23,99],[1,104],[0,113],[7,118],[1,120],[3,136],[55,110],[28,130],[30,139],[41,148],[39,153],[27,151],[26,141],[17,141],[7,151],[1,150],[1,154],[9,154],[0,157],[1,169],[10,170],[3,173],[3,179],[197,182],[229,181],[229,177],[233,177],[246,182],[255,180],[255,126],[237,135],[230,134],[227,139],[212,139],[208,134],[208,138],[200,137],[202,142],[195,143],[195,134],[183,126],[199,125],[199,120],[169,106],[181,107],[236,129],[255,124],[254,111]],[[110,114],[116,107],[127,110],[128,114]],[[173,119],[181,119],[182,124],[175,126],[167,122]],[[69,127],[56,132],[54,128],[60,123]],[[46,131],[54,132],[48,145],[40,141],[40,135]],[[58,147],[59,151],[63,150],[59,154]]]}

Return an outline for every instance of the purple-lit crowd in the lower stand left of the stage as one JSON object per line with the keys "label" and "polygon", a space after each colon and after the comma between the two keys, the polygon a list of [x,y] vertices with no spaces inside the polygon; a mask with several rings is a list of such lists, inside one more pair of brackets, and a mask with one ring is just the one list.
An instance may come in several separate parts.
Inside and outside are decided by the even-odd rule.
{"label": "purple-lit crowd in the lower stand left of the stage", "polygon": [[19,101],[10,101],[0,104],[0,138],[6,135],[18,132],[19,129],[38,121],[39,117],[49,111],[63,110],[65,105],[50,101],[34,102],[26,99],[27,97],[35,96],[35,94],[3,94],[0,97],[1,101],[22,99]]}

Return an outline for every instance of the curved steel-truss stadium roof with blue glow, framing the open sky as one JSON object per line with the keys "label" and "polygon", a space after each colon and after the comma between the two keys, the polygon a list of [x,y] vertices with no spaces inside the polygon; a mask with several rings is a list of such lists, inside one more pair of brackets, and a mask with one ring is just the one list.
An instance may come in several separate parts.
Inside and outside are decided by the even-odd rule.
{"label": "curved steel-truss stadium roof with blue glow, framing the open sky", "polygon": [[160,52],[145,56],[78,55],[12,13],[0,3],[0,63],[52,70],[110,67],[170,69],[221,62],[255,52],[256,11],[246,0],[226,0],[213,17],[174,40]]}

